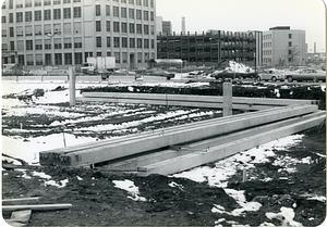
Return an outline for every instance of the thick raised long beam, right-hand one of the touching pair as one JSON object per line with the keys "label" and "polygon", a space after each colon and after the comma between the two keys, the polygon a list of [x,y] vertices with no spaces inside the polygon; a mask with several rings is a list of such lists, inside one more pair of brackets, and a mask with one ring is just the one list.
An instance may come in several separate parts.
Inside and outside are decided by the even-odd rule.
{"label": "thick raised long beam, right-hand one of the touching pair", "polygon": [[[64,154],[61,156],[61,164],[78,166],[87,165],[109,160],[114,160],[128,155],[142,153],[168,146],[185,143],[196,140],[206,139],[258,125],[290,118],[294,116],[305,115],[317,111],[315,105],[289,106],[286,110],[266,112],[262,115],[249,116],[245,118],[232,119],[213,125],[197,126],[194,128],[162,131],[162,135],[154,135],[147,138],[137,138],[135,140],[117,142],[109,146],[100,146],[92,149],[81,149],[80,151]],[[40,157],[41,161],[41,157]]]}

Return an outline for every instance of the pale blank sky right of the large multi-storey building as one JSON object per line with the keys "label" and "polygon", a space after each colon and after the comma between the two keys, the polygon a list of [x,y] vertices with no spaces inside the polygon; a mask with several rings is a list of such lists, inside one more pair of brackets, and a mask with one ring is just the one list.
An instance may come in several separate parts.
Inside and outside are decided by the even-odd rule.
{"label": "pale blank sky right of the large multi-storey building", "polygon": [[[326,2],[327,0],[325,0]],[[324,0],[156,0],[157,16],[171,21],[172,30],[220,29],[230,31],[268,30],[275,26],[304,29],[308,52],[325,51]]]}

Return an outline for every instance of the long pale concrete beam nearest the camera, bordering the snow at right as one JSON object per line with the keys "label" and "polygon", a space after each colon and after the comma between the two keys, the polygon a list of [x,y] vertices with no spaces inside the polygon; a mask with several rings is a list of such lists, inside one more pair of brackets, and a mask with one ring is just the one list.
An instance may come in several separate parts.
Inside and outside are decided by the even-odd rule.
{"label": "long pale concrete beam nearest the camera, bordering the snow at right", "polygon": [[168,159],[162,162],[153,163],[146,166],[138,167],[141,176],[150,174],[169,175],[183,172],[206,163],[215,162],[217,160],[230,156],[238,152],[254,148],[256,146],[276,140],[314,126],[322,124],[326,119],[325,113],[319,116],[311,117],[308,119],[300,119],[298,123],[290,124],[274,130],[249,136],[232,142],[210,147],[207,152],[193,152],[178,157]]}

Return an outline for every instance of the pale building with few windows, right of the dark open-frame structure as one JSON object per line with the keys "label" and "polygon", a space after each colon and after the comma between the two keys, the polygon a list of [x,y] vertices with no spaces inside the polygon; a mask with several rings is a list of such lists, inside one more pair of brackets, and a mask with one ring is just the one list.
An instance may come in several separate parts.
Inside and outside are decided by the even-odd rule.
{"label": "pale building with few windows, right of the dark open-frame structure", "polygon": [[264,65],[304,65],[305,58],[305,30],[290,29],[289,26],[278,26],[263,33]]}

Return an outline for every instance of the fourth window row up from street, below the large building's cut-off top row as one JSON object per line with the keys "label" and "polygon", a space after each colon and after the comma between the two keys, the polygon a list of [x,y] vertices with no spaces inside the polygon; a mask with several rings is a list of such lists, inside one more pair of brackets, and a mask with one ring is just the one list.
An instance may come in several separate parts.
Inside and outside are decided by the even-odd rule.
{"label": "fourth window row up from street, below the large building's cut-off top row", "polygon": [[[96,16],[100,16],[100,7],[101,5],[96,5]],[[73,10],[73,15],[72,15],[72,10]],[[128,14],[129,10],[129,14]],[[61,12],[63,13],[61,16]],[[136,12],[136,14],[135,14]],[[142,10],[136,10],[135,9],[126,9],[126,8],[121,8],[119,10],[119,7],[113,7],[113,16],[114,17],[123,17],[123,18],[136,18],[136,20],[144,20],[144,21],[155,21],[155,13],[152,11],[142,11]],[[63,8],[62,11],[61,9],[53,9],[52,10],[52,17],[51,17],[51,10],[44,10],[44,14],[41,10],[34,11],[34,21],[39,22],[39,21],[51,21],[51,20],[61,20],[62,18],[80,18],[82,17],[82,10],[81,7],[74,7],[74,8]],[[136,15],[136,17],[135,17]],[[14,23],[14,15],[13,13],[9,13],[9,23]],[[44,16],[44,17],[43,17]],[[110,16],[110,5],[106,5],[106,16]],[[24,22],[24,15],[23,12],[16,12],[16,23],[23,23]],[[27,11],[25,12],[25,22],[32,22],[33,21],[33,11]],[[7,16],[3,15],[1,17],[1,23],[7,23]]]}

